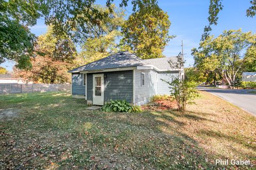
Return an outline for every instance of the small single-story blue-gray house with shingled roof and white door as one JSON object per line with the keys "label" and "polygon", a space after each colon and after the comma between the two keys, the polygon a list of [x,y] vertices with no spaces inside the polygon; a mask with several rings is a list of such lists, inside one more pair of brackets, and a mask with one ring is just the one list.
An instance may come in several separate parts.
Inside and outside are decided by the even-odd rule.
{"label": "small single-story blue-gray house with shingled roof and white door", "polygon": [[177,57],[142,60],[130,52],[110,55],[69,71],[72,95],[93,105],[110,100],[146,104],[154,95],[170,94],[169,85],[161,79],[183,77],[183,68],[171,69],[170,60],[175,62]]}

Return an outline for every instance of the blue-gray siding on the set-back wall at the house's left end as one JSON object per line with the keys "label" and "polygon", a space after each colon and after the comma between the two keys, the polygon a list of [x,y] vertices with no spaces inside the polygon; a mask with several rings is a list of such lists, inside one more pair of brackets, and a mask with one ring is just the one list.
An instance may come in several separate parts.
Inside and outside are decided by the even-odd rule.
{"label": "blue-gray siding on the set-back wall at the house's left end", "polygon": [[72,95],[85,95],[83,74],[72,73]]}

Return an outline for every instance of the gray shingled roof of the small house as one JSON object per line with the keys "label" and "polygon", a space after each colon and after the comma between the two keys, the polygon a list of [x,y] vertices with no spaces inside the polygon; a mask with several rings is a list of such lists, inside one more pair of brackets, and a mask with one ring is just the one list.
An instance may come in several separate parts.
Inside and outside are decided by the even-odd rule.
{"label": "gray shingled roof of the small house", "polygon": [[70,70],[69,73],[80,72],[80,71],[93,71],[103,69],[115,69],[121,67],[132,67],[141,65],[154,65],[159,70],[170,70],[171,67],[168,61],[177,61],[176,57],[164,57],[143,60],[140,57],[130,52],[119,52],[100,60],[94,61],[89,64],[77,67],[76,69]]}

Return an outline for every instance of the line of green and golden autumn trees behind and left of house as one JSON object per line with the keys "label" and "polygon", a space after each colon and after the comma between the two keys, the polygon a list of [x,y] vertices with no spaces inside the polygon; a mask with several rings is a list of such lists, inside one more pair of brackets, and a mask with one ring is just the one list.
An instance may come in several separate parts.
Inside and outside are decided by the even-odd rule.
{"label": "line of green and golden autumn trees behind and left of house", "polygon": [[[15,61],[15,76],[38,83],[70,82],[68,70],[119,50],[162,57],[173,38],[169,16],[154,0],[131,1],[127,20],[125,0],[121,7],[112,1],[0,1],[0,62]],[[29,26],[42,17],[48,29],[36,37]]]}

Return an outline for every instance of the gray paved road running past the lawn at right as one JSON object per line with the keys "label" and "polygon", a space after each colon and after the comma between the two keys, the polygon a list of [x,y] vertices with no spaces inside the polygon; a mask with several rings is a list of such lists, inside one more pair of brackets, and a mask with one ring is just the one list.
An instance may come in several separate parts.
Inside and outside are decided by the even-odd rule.
{"label": "gray paved road running past the lawn at right", "polygon": [[256,116],[256,94],[251,94],[248,92],[253,90],[214,89],[205,86],[198,86],[198,90],[207,91],[213,95],[219,96],[222,99],[225,99],[230,103],[233,103],[234,105]]}

